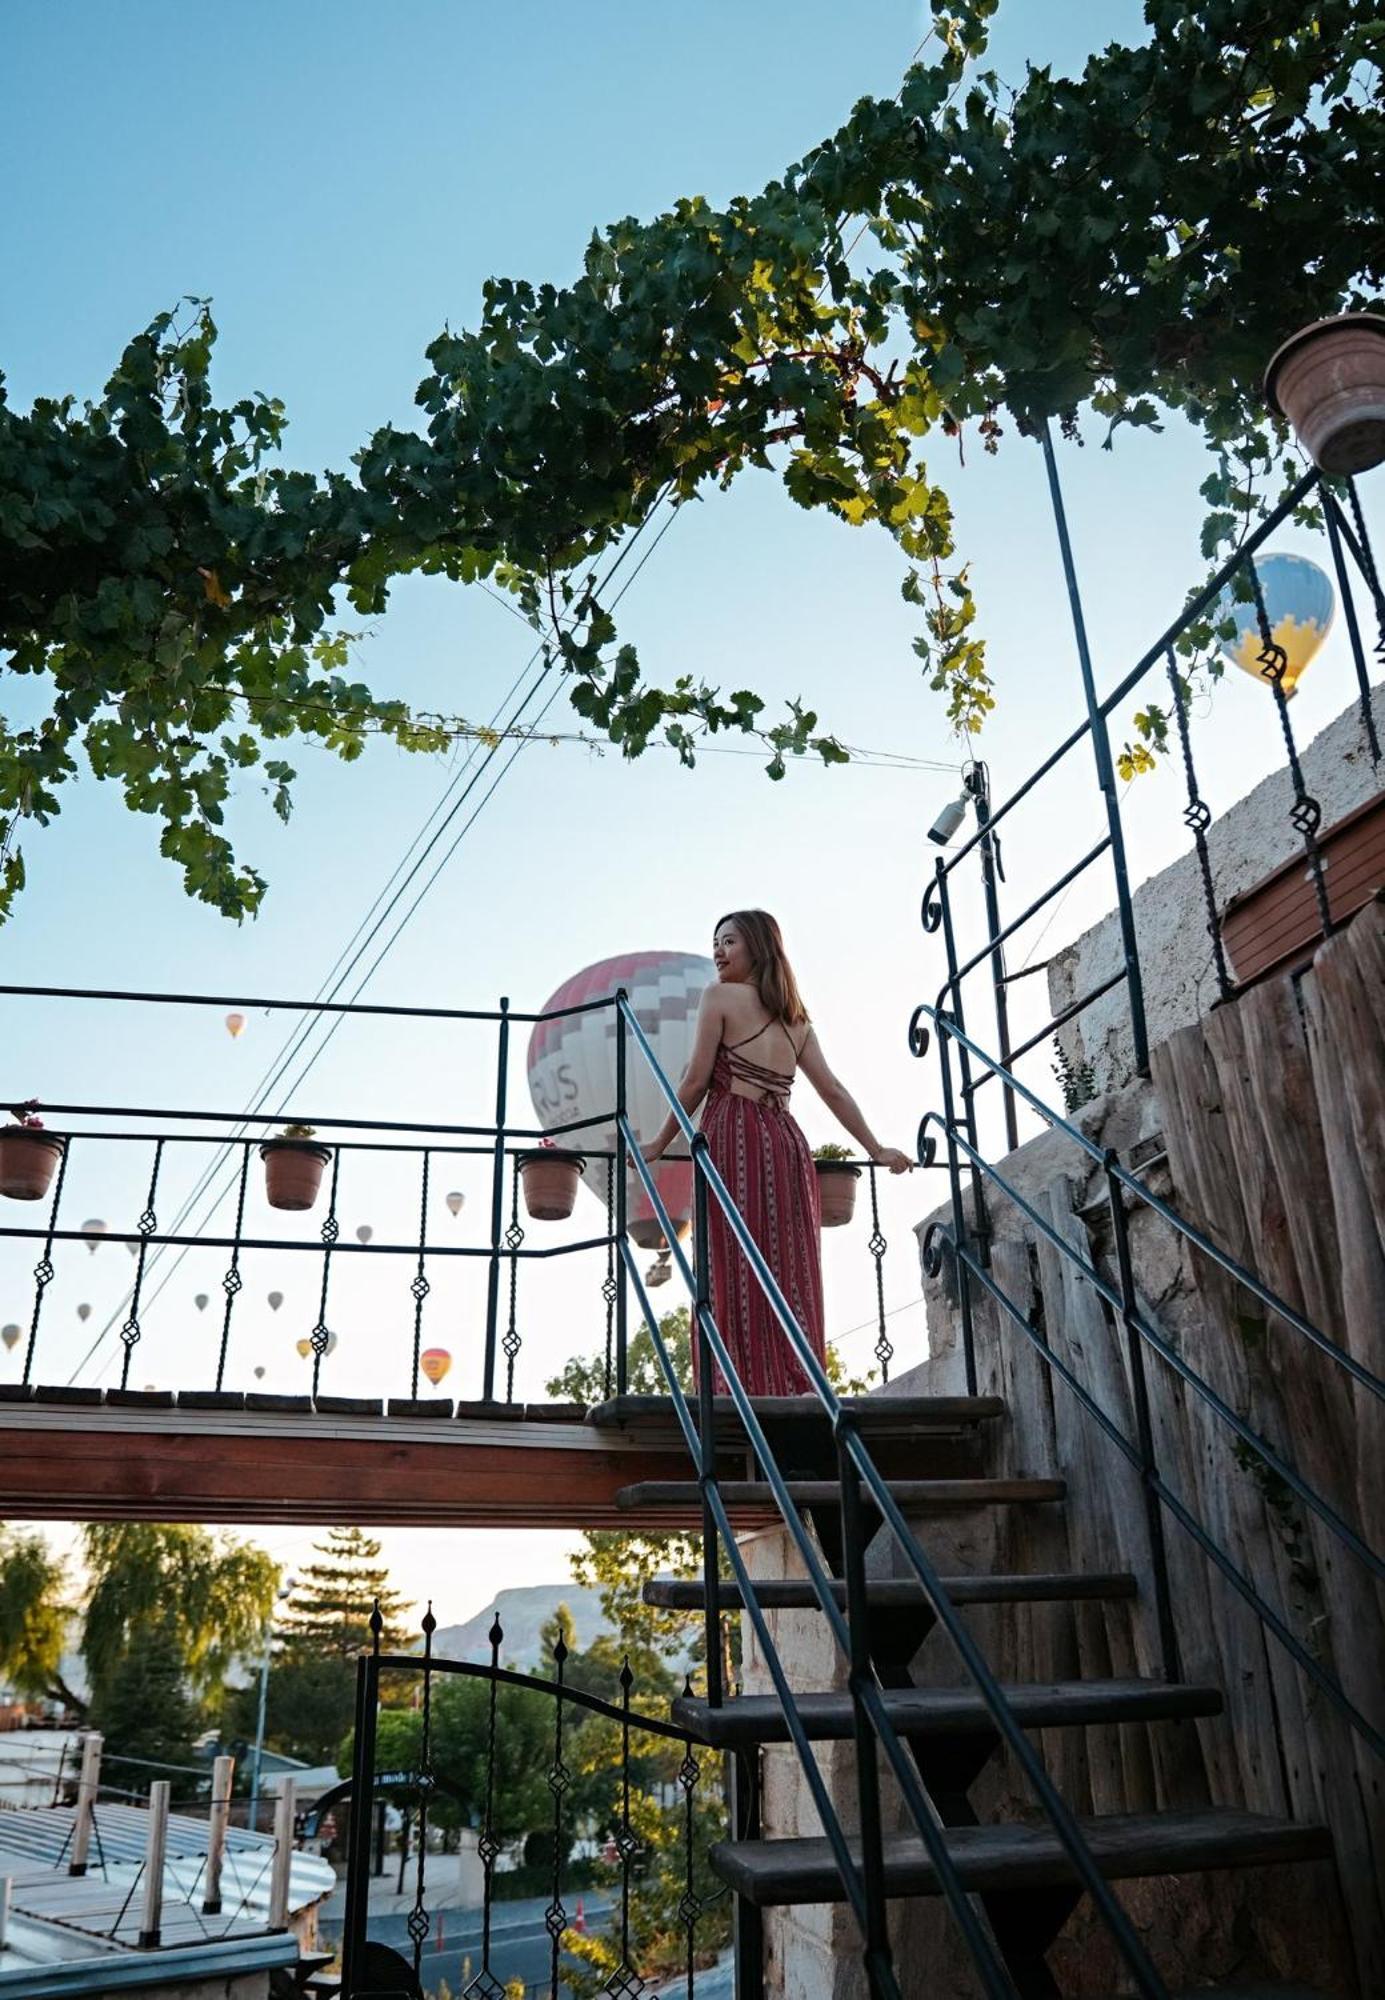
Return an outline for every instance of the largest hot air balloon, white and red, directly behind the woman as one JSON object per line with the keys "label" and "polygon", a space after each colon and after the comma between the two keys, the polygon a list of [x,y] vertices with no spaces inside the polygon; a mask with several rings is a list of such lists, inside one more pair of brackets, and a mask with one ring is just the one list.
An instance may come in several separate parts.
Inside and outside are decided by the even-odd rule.
{"label": "largest hot air balloon, white and red, directly behind the woman", "polygon": [[[711,958],[699,958],[693,952],[630,952],[624,958],[602,958],[600,964],[586,966],[584,972],[566,980],[544,1006],[544,1014],[560,1006],[580,1006],[614,996],[624,986],[660,1070],[676,1084],[693,1054],[697,1004],[703,988],[711,986],[715,978],[717,970]],[[632,1040],[626,1042],[624,1074],[626,1110],[634,1134],[636,1138],[652,1138],[664,1122],[668,1106]],[[540,1020],[528,1038],[528,1090],[546,1128],[568,1124],[572,1118],[592,1118],[600,1112],[612,1114],[616,1102],[612,1010],[600,1008],[590,1014]],[[604,1124],[574,1132],[570,1144],[614,1152],[614,1116]],[[654,1168],[654,1184],[678,1236],[684,1236],[693,1218],[693,1168],[682,1160],[660,1160]],[[582,1186],[590,1188],[604,1204],[602,1162],[588,1166]],[[664,1248],[662,1228],[632,1170],[626,1180],[626,1216],[630,1236],[642,1250]]]}

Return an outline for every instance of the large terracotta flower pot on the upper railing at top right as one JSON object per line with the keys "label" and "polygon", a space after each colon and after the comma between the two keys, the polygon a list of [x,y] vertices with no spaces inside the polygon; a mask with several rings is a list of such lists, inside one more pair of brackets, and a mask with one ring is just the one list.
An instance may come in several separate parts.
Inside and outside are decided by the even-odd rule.
{"label": "large terracotta flower pot on the upper railing at top right", "polygon": [[1299,328],[1265,370],[1265,400],[1287,416],[1319,472],[1369,472],[1385,458],[1385,318],[1343,312]]}

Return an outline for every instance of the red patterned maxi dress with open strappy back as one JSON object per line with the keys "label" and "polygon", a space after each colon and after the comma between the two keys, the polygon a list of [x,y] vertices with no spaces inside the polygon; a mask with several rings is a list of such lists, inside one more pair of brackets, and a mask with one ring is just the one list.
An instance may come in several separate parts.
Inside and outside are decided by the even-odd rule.
{"label": "red patterned maxi dress with open strappy back", "polygon": [[[765,1022],[769,1028],[771,1022]],[[789,1110],[793,1078],[761,1068],[739,1054],[757,1042],[759,1028],[745,1042],[717,1050],[713,1082],[703,1108],[703,1132],[727,1190],[741,1210],[779,1288],[809,1336],[819,1360],[827,1354],[823,1326],[823,1252],[819,1244],[821,1206],[809,1142]],[[733,1082],[759,1096],[741,1096]],[[789,1346],[775,1312],[735,1242],[717,1200],[709,1200],[707,1228],[713,1264],[713,1314],[731,1350],[737,1374],[753,1396],[803,1396],[809,1378]],[[693,1342],[697,1372],[697,1340]],[[721,1368],[715,1388],[725,1394]]]}

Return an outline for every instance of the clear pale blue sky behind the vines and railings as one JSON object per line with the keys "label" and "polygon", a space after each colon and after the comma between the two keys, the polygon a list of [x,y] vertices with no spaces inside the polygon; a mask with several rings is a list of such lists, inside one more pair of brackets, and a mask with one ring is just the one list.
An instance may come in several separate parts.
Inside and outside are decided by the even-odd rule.
{"label": "clear pale blue sky behind the vines and railings", "polygon": [[[220,400],[256,388],[284,398],[286,460],[346,466],[378,424],[414,420],[426,342],[444,324],[474,320],[488,276],[560,284],[606,220],[648,216],[680,194],[721,202],[759,188],[859,96],[893,94],[925,28],[923,10],[905,0],[859,0],[847,14],[825,0],[759,8],[596,0],[582,10],[538,0],[506,8],[400,0],[388,10],[364,0],[292,8],[8,0],[0,18],[8,394],[20,408],[36,394],[96,394],[122,344],[156,312],[184,294],[206,296],[220,326]],[[1025,62],[1073,68],[1099,42],[1139,32],[1131,0],[1101,8],[1009,0],[991,60],[1015,82]],[[1115,452],[1093,434],[1085,448],[1063,450],[1061,468],[1097,674],[1109,686],[1201,574],[1205,454],[1173,422],[1159,436],[1123,436]],[[981,754],[1005,796],[1079,716],[1043,462],[1015,436],[995,458],[967,452],[965,464],[939,440],[931,470],[953,494],[991,650],[1001,708]],[[1321,554],[1297,534],[1275,546]],[[705,756],[693,774],[658,750],[626,764],[612,750],[528,746],[364,998],[494,1008],[508,994],[518,1008],[538,1008],[596,958],[705,952],[727,908],[761,904],[785,926],[829,1062],[881,1138],[911,1148],[937,1086],[933,1066],[911,1060],[905,1026],[943,978],[941,944],[919,928],[935,854],[925,832],[957,792],[965,750],[913,658],[917,628],[901,602],[901,574],[885,536],[795,508],[763,474],[684,508],[620,608],[622,636],[638,644],[648,672],[753,686],[771,708],[803,696],[849,744],[927,768],[869,758],[829,772],[803,764],[771,786],[763,758],[741,754],[745,746]],[[492,598],[410,580],[362,636],[356,670],[376,692],[484,722],[530,652],[532,634]],[[28,712],[26,700],[30,690],[4,686],[12,718]],[[1347,700],[1337,632],[1297,698],[1301,740]],[[546,720],[552,730],[578,726],[560,698]],[[1209,802],[1221,810],[1247,792],[1279,762],[1277,744],[1265,692],[1229,676],[1197,718]],[[464,752],[448,764],[374,746],[352,768],[306,746],[288,754],[300,772],[288,828],[254,778],[230,814],[240,854],[270,880],[256,922],[238,928],[190,902],[156,852],[156,826],[84,778],[60,820],[24,840],[28,888],[0,946],[4,978],[316,994]],[[1171,768],[1133,790],[1127,842],[1137,878],[1185,848],[1181,804]],[[1007,840],[1007,908],[1027,904],[1095,832],[1089,772],[1069,764]],[[1013,964],[1047,956],[1109,904],[1109,878],[1093,872],[1047,934],[1035,926],[1021,940]],[[396,916],[406,908],[394,904]],[[963,946],[977,922],[973,884],[959,910]],[[1017,1034],[1043,1018],[1041,988],[1031,980],[1019,990]],[[4,1088],[14,1098],[220,1112],[246,1102],[288,1026],[250,1010],[232,1042],[216,1010],[38,1000],[4,1000]],[[1051,1086],[1043,1052],[1035,1062],[1031,1078]],[[522,1104],[522,1038],[510,1092]],[[290,1108],[320,1124],[332,1116],[460,1124],[488,1120],[492,1100],[490,1030],[368,1020],[334,1036]],[[815,1144],[841,1138],[807,1088],[799,1114]],[[166,1200],[188,1184],[192,1156],[182,1148],[170,1168]],[[206,1158],[196,1152],[198,1166]],[[124,1216],[128,1226],[144,1202],[146,1168],[146,1146],[108,1148],[80,1190],[84,1212],[112,1226]],[[466,1194],[456,1228],[484,1234],[480,1164],[458,1164],[456,1184]],[[438,1192],[434,1182],[434,1204]],[[911,1230],[941,1192],[923,1174],[885,1188],[897,1366],[923,1352]],[[344,1194],[342,1222],[348,1232],[368,1222],[376,1236],[402,1240],[416,1226],[416,1200],[402,1168],[376,1162]],[[584,1216],[592,1228],[596,1208],[586,1204]],[[582,1212],[574,1228],[580,1222]],[[829,1334],[843,1336],[853,1366],[867,1366],[871,1264],[859,1230],[839,1234],[827,1246]],[[246,1272],[234,1358],[240,1368],[264,1366],[266,1388],[302,1386],[292,1342],[316,1318],[316,1280],[304,1262],[264,1254]],[[356,1272],[358,1264],[370,1268]],[[30,1244],[0,1244],[6,1320],[28,1318],[30,1268]],[[132,1384],[184,1378],[190,1356],[204,1376],[214,1368],[216,1306],[198,1312],[194,1298],[200,1290],[218,1298],[222,1268],[224,1252],[192,1252],[168,1278],[146,1312]],[[112,1336],[90,1360],[86,1350],[112,1314],[120,1318],[128,1272],[114,1246],[90,1256],[70,1246],[58,1260],[44,1380],[76,1370],[82,1380],[114,1380]],[[372,1388],[382,1354],[398,1352],[402,1326],[412,1330],[410,1274],[396,1260],[352,1260],[350,1286],[334,1302],[338,1388]],[[442,1330],[454,1350],[456,1394],[476,1392],[478,1282],[480,1266],[454,1264],[438,1272],[428,1298],[426,1332]],[[266,1294],[276,1286],[286,1300],[270,1314]],[[590,1260],[580,1272],[558,1260],[524,1274],[522,1392],[542,1394],[568,1354],[598,1344],[598,1286]],[[78,1304],[92,1306],[86,1324]],[[16,1370],[16,1356],[0,1354],[2,1370]],[[258,1538],[288,1566],[310,1542],[294,1530]],[[386,1532],[384,1544],[396,1584],[418,1602],[432,1596],[454,1620],[502,1584],[560,1580],[570,1538],[420,1530]]]}

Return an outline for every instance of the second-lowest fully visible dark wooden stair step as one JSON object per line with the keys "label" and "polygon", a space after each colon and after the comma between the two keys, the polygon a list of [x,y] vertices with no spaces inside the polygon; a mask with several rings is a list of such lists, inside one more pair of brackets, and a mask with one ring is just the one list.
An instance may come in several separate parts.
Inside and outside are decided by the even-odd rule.
{"label": "second-lowest fully visible dark wooden stair step", "polygon": [[[1219,1716],[1221,1688],[1169,1680],[1053,1680],[1003,1688],[1015,1720],[1027,1730],[1085,1728],[1091,1722],[1173,1722]],[[995,1728],[977,1688],[885,1688],[885,1714],[901,1736],[969,1736]],[[813,1742],[851,1736],[849,1694],[795,1694],[805,1734]],[[789,1742],[777,1694],[739,1694],[721,1708],[684,1694],[672,1704],[678,1728],[717,1750]]]}

